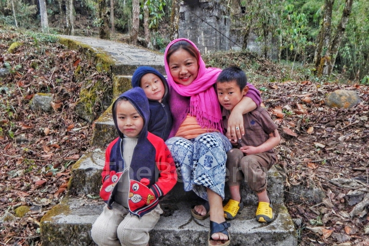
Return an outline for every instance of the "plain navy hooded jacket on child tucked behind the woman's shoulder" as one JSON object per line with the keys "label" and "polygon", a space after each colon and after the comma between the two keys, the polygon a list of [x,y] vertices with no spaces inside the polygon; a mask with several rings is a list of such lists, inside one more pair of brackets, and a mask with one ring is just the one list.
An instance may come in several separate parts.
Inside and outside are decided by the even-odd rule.
{"label": "plain navy hooded jacket on child tucked behind the woman's shoulder", "polygon": [[158,76],[165,88],[164,96],[161,103],[157,100],[149,99],[151,117],[148,124],[148,131],[167,140],[172,129],[173,119],[168,103],[169,86],[167,79],[156,69],[148,66],[141,66],[136,69],[132,76],[132,87],[140,87],[141,78],[147,73],[153,73]]}

